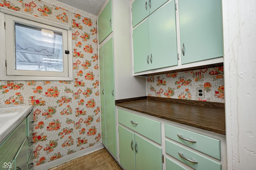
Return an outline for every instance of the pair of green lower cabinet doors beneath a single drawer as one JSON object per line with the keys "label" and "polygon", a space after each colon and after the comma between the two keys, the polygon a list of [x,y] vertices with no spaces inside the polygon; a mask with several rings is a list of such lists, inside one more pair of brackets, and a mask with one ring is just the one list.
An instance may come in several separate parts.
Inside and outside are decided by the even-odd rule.
{"label": "pair of green lower cabinet doors beneath a single drawer", "polygon": [[162,148],[118,126],[120,164],[126,170],[162,170]]}

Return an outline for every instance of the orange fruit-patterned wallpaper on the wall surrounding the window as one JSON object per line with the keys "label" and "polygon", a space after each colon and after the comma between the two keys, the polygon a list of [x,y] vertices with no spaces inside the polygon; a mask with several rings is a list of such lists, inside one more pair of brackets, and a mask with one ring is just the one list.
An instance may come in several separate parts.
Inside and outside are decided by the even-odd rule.
{"label": "orange fruit-patterned wallpaper on the wall surrounding the window", "polygon": [[54,3],[0,0],[3,8],[72,27],[73,81],[0,81],[0,107],[34,106],[35,166],[100,143],[96,16]]}

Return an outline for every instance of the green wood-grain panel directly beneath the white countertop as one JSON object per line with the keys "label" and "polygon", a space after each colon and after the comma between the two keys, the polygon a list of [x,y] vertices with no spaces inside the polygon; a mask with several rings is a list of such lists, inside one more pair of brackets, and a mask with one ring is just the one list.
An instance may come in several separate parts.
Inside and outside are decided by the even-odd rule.
{"label": "green wood-grain panel directly beneath the white countertop", "polygon": [[12,162],[26,135],[26,119],[0,145],[0,165]]}

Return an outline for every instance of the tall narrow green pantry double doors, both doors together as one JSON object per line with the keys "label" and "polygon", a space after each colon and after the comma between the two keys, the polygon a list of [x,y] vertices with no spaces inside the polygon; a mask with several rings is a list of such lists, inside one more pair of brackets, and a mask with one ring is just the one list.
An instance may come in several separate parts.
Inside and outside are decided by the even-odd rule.
{"label": "tall narrow green pantry double doors, both doors together", "polygon": [[116,157],[116,111],[114,88],[113,38],[100,48],[100,108],[102,142]]}

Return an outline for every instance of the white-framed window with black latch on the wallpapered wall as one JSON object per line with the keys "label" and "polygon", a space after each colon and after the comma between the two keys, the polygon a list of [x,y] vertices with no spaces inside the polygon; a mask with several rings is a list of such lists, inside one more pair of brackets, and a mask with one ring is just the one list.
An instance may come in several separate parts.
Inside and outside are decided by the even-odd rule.
{"label": "white-framed window with black latch on the wallpapered wall", "polygon": [[[0,79],[72,80],[71,28],[1,9]],[[0,32],[2,31],[0,28]],[[2,40],[5,40],[5,42]],[[5,65],[3,65],[3,63]],[[2,67],[3,66],[3,67]]]}

